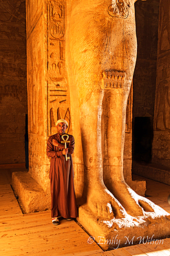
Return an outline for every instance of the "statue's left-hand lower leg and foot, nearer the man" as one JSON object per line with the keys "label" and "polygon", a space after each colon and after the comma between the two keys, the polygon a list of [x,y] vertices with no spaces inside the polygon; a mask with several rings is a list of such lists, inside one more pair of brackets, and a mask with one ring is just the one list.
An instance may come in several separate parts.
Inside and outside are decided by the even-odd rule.
{"label": "statue's left-hand lower leg and foot, nearer the man", "polygon": [[81,105],[81,136],[85,163],[85,195],[88,207],[99,217],[123,217],[122,205],[103,182],[101,121],[103,90],[96,90]]}

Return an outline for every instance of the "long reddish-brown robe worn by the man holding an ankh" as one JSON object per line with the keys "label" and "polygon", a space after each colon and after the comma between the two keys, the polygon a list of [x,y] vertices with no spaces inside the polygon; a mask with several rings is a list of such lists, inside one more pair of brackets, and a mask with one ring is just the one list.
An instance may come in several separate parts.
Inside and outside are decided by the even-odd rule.
{"label": "long reddish-brown robe worn by the man holding an ankh", "polygon": [[[59,146],[55,147],[52,140],[58,141]],[[52,196],[52,218],[62,216],[64,218],[76,218],[76,196],[74,192],[74,171],[72,165],[72,156],[74,152],[74,137],[69,135],[67,143],[68,154],[70,159],[65,160],[62,154],[64,143],[60,134],[50,136],[47,141],[47,156],[51,157],[50,163],[50,185]]]}

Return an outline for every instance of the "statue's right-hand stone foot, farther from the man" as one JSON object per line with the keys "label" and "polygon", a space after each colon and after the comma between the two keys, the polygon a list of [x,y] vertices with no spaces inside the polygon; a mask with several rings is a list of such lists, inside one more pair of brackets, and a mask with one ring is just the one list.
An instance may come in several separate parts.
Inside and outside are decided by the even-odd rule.
{"label": "statue's right-hand stone foot, farther from the man", "polygon": [[147,199],[136,194],[125,182],[115,183],[112,181],[111,184],[107,185],[107,188],[123,205],[129,215],[136,217],[142,216],[145,212],[153,212],[153,208],[147,203]]}

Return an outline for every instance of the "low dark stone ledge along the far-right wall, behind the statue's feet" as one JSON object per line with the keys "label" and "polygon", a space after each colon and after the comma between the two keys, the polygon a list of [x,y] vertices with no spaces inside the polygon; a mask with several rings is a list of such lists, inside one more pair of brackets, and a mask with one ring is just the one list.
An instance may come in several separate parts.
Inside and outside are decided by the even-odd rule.
{"label": "low dark stone ledge along the far-right wall, behind the statue's feet", "polygon": [[133,167],[133,173],[148,179],[152,179],[153,181],[159,181],[164,184],[170,185],[169,168],[162,167],[161,165],[157,165],[156,167],[156,165],[153,164],[142,165],[136,163]]}

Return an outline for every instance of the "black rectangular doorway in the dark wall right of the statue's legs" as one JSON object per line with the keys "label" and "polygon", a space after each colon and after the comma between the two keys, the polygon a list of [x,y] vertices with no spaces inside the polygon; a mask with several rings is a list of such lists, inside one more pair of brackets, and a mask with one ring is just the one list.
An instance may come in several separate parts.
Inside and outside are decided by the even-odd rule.
{"label": "black rectangular doorway in the dark wall right of the statue's legs", "polygon": [[134,118],[134,160],[151,161],[151,146],[153,140],[153,129],[151,118]]}

